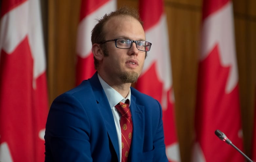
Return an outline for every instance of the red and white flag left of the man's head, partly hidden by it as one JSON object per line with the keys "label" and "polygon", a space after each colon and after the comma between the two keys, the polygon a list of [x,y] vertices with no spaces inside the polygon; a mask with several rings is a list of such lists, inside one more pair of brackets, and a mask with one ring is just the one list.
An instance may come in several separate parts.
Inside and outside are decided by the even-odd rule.
{"label": "red and white flag left of the man's head, partly hidden by it", "polygon": [[115,10],[116,0],[82,0],[76,45],[76,85],[96,72],[92,53],[91,31],[106,13]]}

